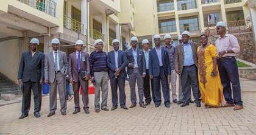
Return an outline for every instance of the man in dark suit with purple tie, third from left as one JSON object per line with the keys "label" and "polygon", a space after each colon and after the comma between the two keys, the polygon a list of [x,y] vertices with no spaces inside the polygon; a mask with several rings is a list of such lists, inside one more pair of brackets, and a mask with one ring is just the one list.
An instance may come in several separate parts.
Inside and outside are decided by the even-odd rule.
{"label": "man in dark suit with purple tie, third from left", "polygon": [[80,112],[79,105],[79,88],[82,88],[82,100],[84,103],[84,111],[86,114],[89,111],[89,97],[88,97],[88,80],[90,79],[90,63],[89,55],[83,52],[84,42],[82,40],[76,41],[76,52],[69,55],[68,76],[69,81],[73,85],[75,110],[73,114]]}

